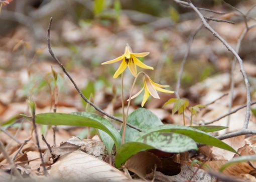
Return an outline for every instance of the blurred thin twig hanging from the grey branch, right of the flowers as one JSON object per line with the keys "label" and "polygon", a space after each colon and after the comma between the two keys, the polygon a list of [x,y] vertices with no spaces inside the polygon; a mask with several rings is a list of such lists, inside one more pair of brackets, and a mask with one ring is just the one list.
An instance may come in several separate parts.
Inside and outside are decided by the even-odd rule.
{"label": "blurred thin twig hanging from the grey branch, right of the flowers", "polygon": [[187,43],[187,51],[183,57],[183,60],[181,62],[181,65],[180,65],[180,71],[179,71],[179,76],[178,76],[178,79],[177,79],[177,84],[176,84],[176,91],[175,91],[175,95],[177,98],[180,98],[180,94],[179,94],[179,89],[180,89],[180,82],[181,82],[181,77],[182,77],[182,74],[183,74],[183,69],[184,69],[184,65],[187,61],[187,58],[188,58],[188,55],[189,55],[189,52],[190,52],[190,49],[191,49],[191,45],[193,43],[193,40],[194,40],[194,37],[195,35],[197,34],[197,32],[202,28],[203,24],[200,24],[200,26],[198,26],[194,32],[192,32],[188,38],[188,43]]}

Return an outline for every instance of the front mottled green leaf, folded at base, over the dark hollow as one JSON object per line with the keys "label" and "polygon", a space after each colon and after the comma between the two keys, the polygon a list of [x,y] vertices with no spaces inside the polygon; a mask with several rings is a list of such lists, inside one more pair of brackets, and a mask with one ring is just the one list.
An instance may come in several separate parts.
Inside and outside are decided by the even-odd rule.
{"label": "front mottled green leaf, folded at base, over the dark hollow", "polygon": [[139,151],[151,148],[165,152],[180,153],[190,149],[197,149],[193,139],[183,134],[172,132],[151,132],[139,137],[136,142],[127,142],[121,145],[115,156],[118,168],[121,164]]}

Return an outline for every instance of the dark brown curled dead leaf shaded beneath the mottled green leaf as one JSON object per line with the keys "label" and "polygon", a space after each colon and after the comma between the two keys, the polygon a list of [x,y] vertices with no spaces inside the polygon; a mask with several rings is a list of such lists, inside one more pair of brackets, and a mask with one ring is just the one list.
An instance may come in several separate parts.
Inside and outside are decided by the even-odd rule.
{"label": "dark brown curled dead leaf shaded beneath the mottled green leaf", "polygon": [[130,157],[124,166],[144,179],[146,174],[154,171],[155,166],[162,168],[162,162],[155,154],[148,151],[140,151]]}

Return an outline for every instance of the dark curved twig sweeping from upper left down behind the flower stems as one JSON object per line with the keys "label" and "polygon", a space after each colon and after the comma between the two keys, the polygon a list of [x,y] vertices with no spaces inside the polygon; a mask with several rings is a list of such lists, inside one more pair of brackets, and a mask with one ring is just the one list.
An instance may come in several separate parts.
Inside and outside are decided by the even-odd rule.
{"label": "dark curved twig sweeping from upper left down behind the flower stems", "polygon": [[[52,24],[52,17],[50,18],[50,22],[49,22],[49,26],[48,26],[48,29],[47,29],[47,32],[48,32],[48,36],[47,36],[47,41],[48,41],[48,50],[51,54],[51,56],[53,57],[53,59],[61,66],[63,72],[68,76],[68,78],[70,79],[70,81],[73,83],[74,87],[76,88],[76,90],[78,91],[78,93],[80,94],[80,96],[84,99],[84,101],[86,101],[87,103],[89,103],[91,106],[93,106],[97,111],[101,112],[102,114],[106,115],[107,117],[113,119],[113,120],[116,120],[118,122],[121,122],[122,123],[122,120],[113,116],[113,115],[110,115],[108,113],[106,113],[105,111],[103,111],[101,108],[99,108],[97,105],[95,105],[94,103],[92,103],[90,100],[88,100],[84,94],[82,93],[82,91],[78,88],[77,84],[75,83],[75,81],[73,80],[73,78],[70,76],[70,74],[67,72],[66,68],[63,66],[63,64],[59,61],[59,59],[55,56],[55,54],[53,53],[52,51],[52,48],[51,48],[51,43],[50,43],[50,28],[51,28],[51,24]],[[130,127],[138,130],[138,131],[142,131],[142,129],[130,124],[130,123],[127,123],[127,125],[129,125]]]}

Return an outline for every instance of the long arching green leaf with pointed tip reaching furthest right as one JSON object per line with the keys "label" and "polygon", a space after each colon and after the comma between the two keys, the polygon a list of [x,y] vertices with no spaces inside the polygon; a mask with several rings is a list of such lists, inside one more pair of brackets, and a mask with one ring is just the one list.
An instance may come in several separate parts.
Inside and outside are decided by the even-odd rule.
{"label": "long arching green leaf with pointed tip reaching furthest right", "polygon": [[199,129],[195,129],[195,128],[192,128],[189,126],[173,125],[173,124],[154,126],[154,127],[151,127],[149,129],[145,130],[144,132],[142,132],[141,136],[146,135],[150,132],[155,132],[155,131],[175,132],[175,133],[184,134],[186,136],[191,137],[194,141],[196,141],[198,143],[216,146],[216,147],[237,153],[231,146],[224,143],[223,141],[215,138],[214,136],[212,136],[204,131],[201,131]]}

